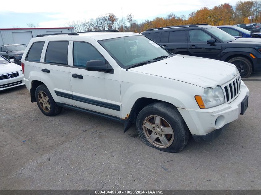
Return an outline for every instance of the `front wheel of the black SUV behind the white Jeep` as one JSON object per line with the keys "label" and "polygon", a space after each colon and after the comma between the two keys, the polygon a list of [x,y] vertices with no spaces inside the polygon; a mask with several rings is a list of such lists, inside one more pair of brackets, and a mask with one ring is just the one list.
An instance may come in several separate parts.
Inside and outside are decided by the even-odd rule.
{"label": "front wheel of the black SUV behind the white Jeep", "polygon": [[228,63],[232,63],[234,64],[239,73],[240,73],[240,76],[242,78],[246,78],[246,77],[249,77],[252,73],[252,63],[249,61],[249,59],[247,58],[244,58],[244,57],[234,57],[234,58],[231,58]]}

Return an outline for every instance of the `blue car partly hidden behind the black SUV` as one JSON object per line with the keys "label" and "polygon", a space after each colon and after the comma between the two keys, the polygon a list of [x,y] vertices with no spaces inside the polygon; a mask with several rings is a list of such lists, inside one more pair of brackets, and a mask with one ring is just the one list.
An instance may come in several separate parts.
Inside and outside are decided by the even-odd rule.
{"label": "blue car partly hidden behind the black SUV", "polygon": [[225,31],[229,35],[232,35],[235,38],[261,38],[260,33],[252,33],[249,30],[240,28],[238,26],[230,26],[230,25],[225,25],[225,26],[216,26],[217,28],[220,28],[221,30]]}

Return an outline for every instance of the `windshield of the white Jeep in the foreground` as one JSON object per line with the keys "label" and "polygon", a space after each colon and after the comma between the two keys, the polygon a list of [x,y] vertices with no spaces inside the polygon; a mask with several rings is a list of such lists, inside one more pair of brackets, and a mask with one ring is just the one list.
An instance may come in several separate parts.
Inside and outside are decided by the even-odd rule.
{"label": "windshield of the white Jeep in the foreground", "polygon": [[153,62],[153,60],[161,60],[165,56],[172,55],[157,43],[144,36],[106,39],[99,41],[99,43],[122,68],[133,67],[143,62],[145,64]]}

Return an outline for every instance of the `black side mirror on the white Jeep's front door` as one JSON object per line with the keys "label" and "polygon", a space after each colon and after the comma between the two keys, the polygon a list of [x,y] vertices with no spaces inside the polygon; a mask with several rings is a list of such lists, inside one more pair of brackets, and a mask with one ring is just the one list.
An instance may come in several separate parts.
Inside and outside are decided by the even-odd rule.
{"label": "black side mirror on the white Jeep's front door", "polygon": [[[95,60],[87,61],[86,70],[87,71],[98,71],[98,72],[110,72],[110,71],[113,71],[113,68],[111,67],[110,64],[105,64],[104,61],[95,59]],[[111,72],[111,73],[113,73],[113,72]]]}

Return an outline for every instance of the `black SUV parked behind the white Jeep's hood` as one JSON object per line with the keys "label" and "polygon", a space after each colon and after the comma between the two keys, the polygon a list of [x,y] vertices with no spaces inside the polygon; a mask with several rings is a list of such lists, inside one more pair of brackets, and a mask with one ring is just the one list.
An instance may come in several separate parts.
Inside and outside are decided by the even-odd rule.
{"label": "black SUV parked behind the white Jeep's hood", "polygon": [[261,70],[261,39],[236,39],[208,24],[168,26],[141,33],[175,54],[217,59],[234,64],[241,77]]}

